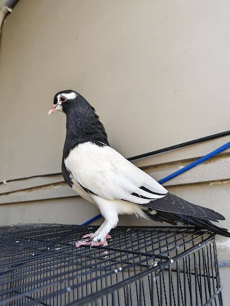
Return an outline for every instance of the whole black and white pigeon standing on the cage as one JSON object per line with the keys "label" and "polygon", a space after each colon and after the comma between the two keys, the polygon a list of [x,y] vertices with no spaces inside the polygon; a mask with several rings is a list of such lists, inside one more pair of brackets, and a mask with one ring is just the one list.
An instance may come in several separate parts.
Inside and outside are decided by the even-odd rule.
{"label": "whole black and white pigeon standing on the cage", "polygon": [[211,222],[225,220],[221,214],[169,193],[111,148],[95,109],[78,92],[58,92],[49,114],[55,111],[66,114],[61,165],[64,180],[78,195],[94,203],[105,219],[94,234],[77,242],[77,247],[107,245],[108,234],[117,226],[120,214],[134,214],[173,225],[181,222],[230,237],[224,228]]}

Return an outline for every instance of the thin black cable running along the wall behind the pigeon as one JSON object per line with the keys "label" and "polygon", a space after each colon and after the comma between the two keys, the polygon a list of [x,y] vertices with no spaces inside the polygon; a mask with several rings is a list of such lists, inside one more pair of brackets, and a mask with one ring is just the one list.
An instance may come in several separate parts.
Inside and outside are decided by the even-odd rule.
{"label": "thin black cable running along the wall behind the pigeon", "polygon": [[[182,143],[179,143],[179,144],[175,144],[175,145],[163,148],[163,149],[159,149],[159,150],[147,152],[147,153],[144,153],[144,154],[132,156],[132,157],[127,158],[127,160],[128,161],[133,161],[133,160],[141,159],[141,158],[144,158],[144,157],[149,157],[149,156],[152,156],[152,155],[156,155],[156,154],[159,154],[159,153],[163,153],[163,152],[175,150],[175,149],[178,149],[178,148],[182,148],[182,147],[185,147],[185,146],[188,146],[188,145],[191,145],[191,144],[199,143],[199,142],[206,141],[206,140],[216,139],[216,138],[223,137],[223,136],[228,136],[228,135],[230,135],[230,131],[225,131],[225,132],[213,134],[213,135],[210,135],[210,136],[205,136],[205,137],[201,137],[201,138],[198,138],[198,139],[190,140],[190,141],[187,141],[187,142],[182,142]],[[60,174],[62,174],[62,172],[48,173],[48,174],[38,174],[38,175],[32,175],[32,176],[27,176],[27,177],[20,177],[19,179],[12,179],[12,180],[7,180],[7,181],[4,181],[4,182],[0,182],[0,185],[10,183],[10,182],[16,182],[16,181],[22,181],[22,180],[28,180],[28,179],[35,179],[36,177],[47,177],[47,176],[55,176],[55,175],[60,175]]]}

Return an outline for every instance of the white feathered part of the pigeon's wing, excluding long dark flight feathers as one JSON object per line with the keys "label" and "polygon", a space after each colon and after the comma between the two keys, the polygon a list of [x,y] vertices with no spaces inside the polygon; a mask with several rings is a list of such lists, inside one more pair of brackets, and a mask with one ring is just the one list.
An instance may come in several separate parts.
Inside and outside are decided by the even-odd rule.
{"label": "white feathered part of the pigeon's wing, excluding long dark flight feathers", "polygon": [[79,144],[65,166],[81,186],[104,199],[144,204],[167,194],[162,185],[109,146]]}

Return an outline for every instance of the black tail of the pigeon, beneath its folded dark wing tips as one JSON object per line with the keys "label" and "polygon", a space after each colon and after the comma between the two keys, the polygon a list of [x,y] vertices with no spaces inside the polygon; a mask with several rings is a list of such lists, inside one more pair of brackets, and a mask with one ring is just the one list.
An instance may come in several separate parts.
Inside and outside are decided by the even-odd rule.
{"label": "black tail of the pigeon, beneath its folded dark wing tips", "polygon": [[151,214],[151,209],[149,209],[145,213],[148,215],[148,217],[154,221],[158,222],[168,222],[173,225],[177,225],[179,222],[181,222],[183,225],[193,225],[197,226],[198,228],[201,228],[203,230],[208,230],[214,234],[218,234],[225,237],[230,237],[230,233],[225,230],[225,228],[216,226],[212,222],[206,219],[201,219],[197,217],[191,217],[187,215],[176,215],[173,213],[163,212],[163,211],[157,211],[155,214]]}

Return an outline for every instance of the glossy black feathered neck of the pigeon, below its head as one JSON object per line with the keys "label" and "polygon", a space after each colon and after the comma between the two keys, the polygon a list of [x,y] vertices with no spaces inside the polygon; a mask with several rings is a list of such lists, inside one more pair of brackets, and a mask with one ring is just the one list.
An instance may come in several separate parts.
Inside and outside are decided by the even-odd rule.
{"label": "glossy black feathered neck of the pigeon, below its head", "polygon": [[66,113],[66,137],[63,158],[78,144],[93,142],[99,146],[109,145],[104,126],[93,108],[72,109]]}

